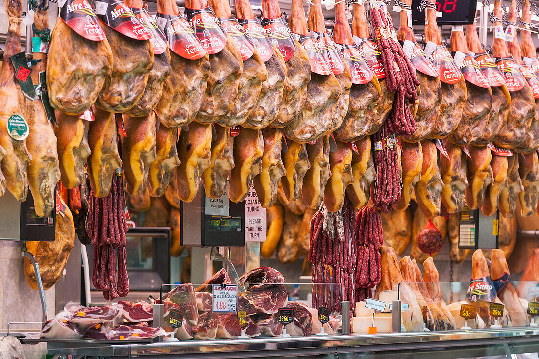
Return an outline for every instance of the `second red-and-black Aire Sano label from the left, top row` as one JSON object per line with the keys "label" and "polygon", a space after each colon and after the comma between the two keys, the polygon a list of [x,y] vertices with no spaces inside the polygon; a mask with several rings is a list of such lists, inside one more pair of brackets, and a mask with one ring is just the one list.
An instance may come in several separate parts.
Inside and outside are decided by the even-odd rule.
{"label": "second red-and-black Aire Sano label from the left, top row", "polygon": [[109,28],[135,40],[149,40],[151,33],[122,0],[95,2],[95,13]]}

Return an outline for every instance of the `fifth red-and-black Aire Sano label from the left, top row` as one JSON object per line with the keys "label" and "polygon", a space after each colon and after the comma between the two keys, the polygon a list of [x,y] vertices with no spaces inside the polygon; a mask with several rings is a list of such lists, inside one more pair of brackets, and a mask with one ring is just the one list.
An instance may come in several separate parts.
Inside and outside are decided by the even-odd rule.
{"label": "fifth red-and-black Aire Sano label from the left, top row", "polygon": [[226,32],[209,6],[203,9],[185,8],[185,17],[195,36],[209,55],[214,55],[226,46]]}

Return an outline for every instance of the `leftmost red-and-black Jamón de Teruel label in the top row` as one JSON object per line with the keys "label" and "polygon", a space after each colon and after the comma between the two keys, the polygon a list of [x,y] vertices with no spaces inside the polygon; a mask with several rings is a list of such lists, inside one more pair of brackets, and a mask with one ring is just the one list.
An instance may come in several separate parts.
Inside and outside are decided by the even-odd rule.
{"label": "leftmost red-and-black Jam\u00f3n de Teruel label in the top row", "polygon": [[86,0],[64,0],[58,3],[60,18],[73,31],[87,40],[101,41],[105,39],[105,31],[101,28],[98,17]]}

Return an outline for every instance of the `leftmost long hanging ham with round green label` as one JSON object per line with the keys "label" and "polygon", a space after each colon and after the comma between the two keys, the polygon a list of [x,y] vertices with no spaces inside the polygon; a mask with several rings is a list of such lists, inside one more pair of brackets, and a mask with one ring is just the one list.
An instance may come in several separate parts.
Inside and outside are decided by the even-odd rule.
{"label": "leftmost long hanging ham with round green label", "polygon": [[2,158],[2,172],[9,192],[15,199],[22,202],[26,199],[28,192],[26,167],[31,160],[31,155],[26,147],[25,138],[30,128],[26,127],[26,133],[12,134],[9,133],[10,127],[8,127],[10,121],[20,118],[26,121],[26,99],[15,79],[15,69],[11,62],[11,56],[20,52],[22,5],[19,0],[6,0],[5,11],[9,16],[9,27],[0,73],[0,128],[2,128],[0,147],[5,150],[4,158]]}

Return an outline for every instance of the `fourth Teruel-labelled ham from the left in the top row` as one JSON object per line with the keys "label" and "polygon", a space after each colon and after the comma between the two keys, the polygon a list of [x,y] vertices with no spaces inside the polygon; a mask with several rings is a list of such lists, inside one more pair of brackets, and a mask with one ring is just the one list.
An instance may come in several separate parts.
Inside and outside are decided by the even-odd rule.
{"label": "fourth Teruel-labelled ham from the left in the top row", "polygon": [[[157,13],[180,16],[174,0],[158,0]],[[186,22],[184,25],[188,26]],[[194,37],[189,39],[196,42]],[[193,48],[196,50],[194,58],[185,58],[174,52],[174,49],[170,50],[170,75],[164,81],[161,98],[155,107],[158,119],[169,128],[188,125],[202,106],[210,74],[210,61],[202,45],[198,45]]]}

